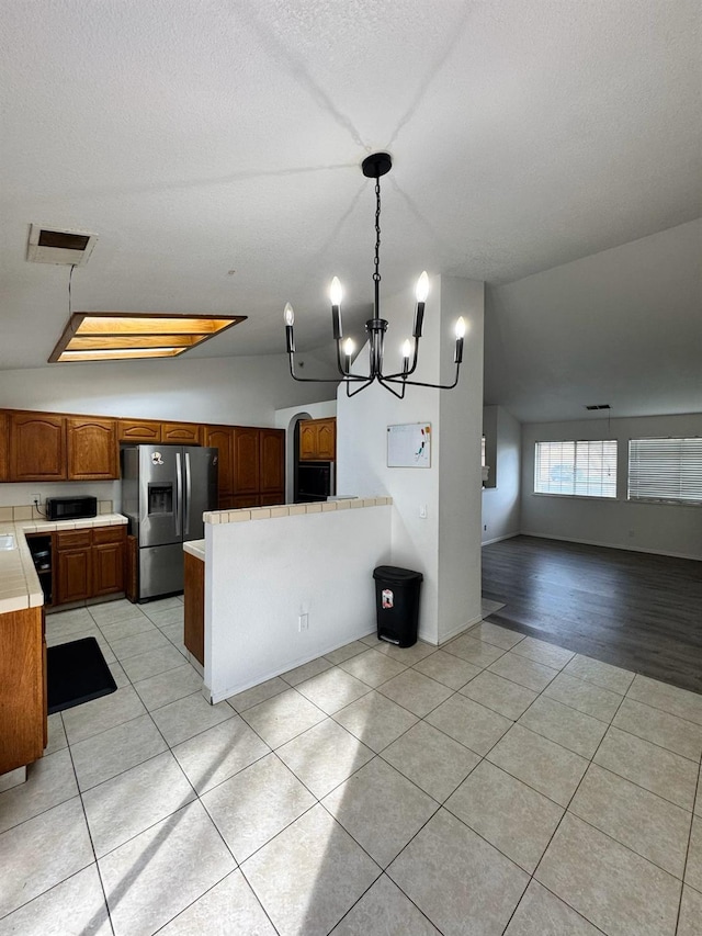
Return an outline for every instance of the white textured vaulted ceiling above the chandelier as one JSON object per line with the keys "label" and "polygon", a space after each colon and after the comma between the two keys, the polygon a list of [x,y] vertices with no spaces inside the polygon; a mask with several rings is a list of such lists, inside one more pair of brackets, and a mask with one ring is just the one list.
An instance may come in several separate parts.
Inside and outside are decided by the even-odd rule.
{"label": "white textured vaulted ceiling above the chandelier", "polygon": [[[700,228],[686,225],[702,214],[697,0],[0,5],[0,369],[44,365],[68,316],[68,268],[24,259],[33,222],[99,235],[73,274],[76,311],[249,316],[195,356],[283,351],[286,300],[298,346],[319,346],[333,273],[358,326],[374,211],[359,163],[381,148],[395,160],[383,289],[422,268],[487,281],[488,402],[539,418],[561,396],[553,418],[577,415],[562,388],[589,394],[585,373],[543,364],[574,316],[596,377],[622,361],[584,323],[636,334],[616,345],[630,390],[647,337],[661,390],[699,359]],[[666,275],[677,292],[661,308],[633,271],[671,259],[648,238],[680,225],[692,267]],[[622,245],[620,277],[601,258]],[[591,255],[605,295],[573,266]],[[620,415],[652,408],[639,383]],[[664,395],[668,411],[702,408],[683,390]]]}

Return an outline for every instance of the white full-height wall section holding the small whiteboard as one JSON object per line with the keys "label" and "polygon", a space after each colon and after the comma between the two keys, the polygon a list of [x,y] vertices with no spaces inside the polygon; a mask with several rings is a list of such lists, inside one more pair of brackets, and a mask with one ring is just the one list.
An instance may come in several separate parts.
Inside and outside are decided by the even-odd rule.
{"label": "white full-height wall section holding the small whiteboard", "polygon": [[[423,574],[419,632],[434,644],[480,614],[483,311],[482,283],[432,279],[415,376],[453,379],[453,323],[463,315],[468,330],[455,390],[408,387],[399,401],[375,384],[351,399],[343,386],[338,395],[337,490],[393,497],[393,564]],[[382,313],[389,322],[386,370],[399,370],[401,341],[411,335],[411,292],[384,298]],[[354,369],[366,361],[362,351]],[[430,469],[387,467],[387,426],[404,422],[431,424]]]}

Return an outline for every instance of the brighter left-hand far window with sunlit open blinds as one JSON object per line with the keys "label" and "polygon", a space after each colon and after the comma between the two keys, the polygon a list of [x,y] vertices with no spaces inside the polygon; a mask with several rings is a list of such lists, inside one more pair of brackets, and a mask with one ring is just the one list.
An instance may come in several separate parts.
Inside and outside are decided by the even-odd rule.
{"label": "brighter left-hand far window with sunlit open blinds", "polygon": [[616,440],[536,442],[534,493],[616,497]]}

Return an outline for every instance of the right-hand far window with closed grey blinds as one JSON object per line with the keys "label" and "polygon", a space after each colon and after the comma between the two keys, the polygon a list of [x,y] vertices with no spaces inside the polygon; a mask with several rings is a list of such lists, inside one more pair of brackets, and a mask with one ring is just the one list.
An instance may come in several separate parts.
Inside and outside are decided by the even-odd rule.
{"label": "right-hand far window with closed grey blinds", "polygon": [[631,439],[629,499],[702,504],[702,439]]}

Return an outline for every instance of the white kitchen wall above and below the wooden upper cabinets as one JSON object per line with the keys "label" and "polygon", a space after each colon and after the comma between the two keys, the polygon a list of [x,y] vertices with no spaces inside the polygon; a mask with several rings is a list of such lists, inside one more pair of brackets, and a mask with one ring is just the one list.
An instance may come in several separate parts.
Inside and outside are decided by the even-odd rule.
{"label": "white kitchen wall above and below the wooden upper cabinets", "polygon": [[[0,408],[275,426],[278,407],[316,403],[329,386],[295,383],[284,354],[53,364],[0,371]],[[76,493],[78,485],[100,499],[118,499],[114,482],[0,484],[0,506],[31,504],[33,494]]]}

